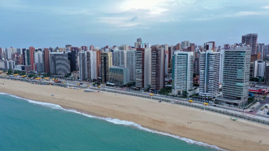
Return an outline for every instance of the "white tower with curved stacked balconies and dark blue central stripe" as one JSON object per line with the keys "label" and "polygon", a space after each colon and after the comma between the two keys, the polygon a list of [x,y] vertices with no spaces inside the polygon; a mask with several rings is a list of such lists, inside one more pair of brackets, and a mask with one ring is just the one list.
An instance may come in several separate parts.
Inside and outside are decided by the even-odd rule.
{"label": "white tower with curved stacked balconies and dark blue central stripe", "polygon": [[218,94],[220,71],[220,52],[207,50],[200,56],[199,95],[214,97]]}

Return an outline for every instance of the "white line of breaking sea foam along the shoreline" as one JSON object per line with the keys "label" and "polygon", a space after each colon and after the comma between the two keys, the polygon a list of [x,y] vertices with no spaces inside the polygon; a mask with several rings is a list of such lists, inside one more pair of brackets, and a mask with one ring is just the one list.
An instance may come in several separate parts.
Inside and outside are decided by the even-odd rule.
{"label": "white line of breaking sea foam along the shoreline", "polygon": [[27,100],[29,103],[34,103],[34,104],[46,106],[46,107],[49,107],[51,109],[65,110],[65,111],[68,111],[68,112],[73,112],[73,113],[81,114],[81,115],[84,115],[84,116],[87,116],[87,117],[90,117],[90,118],[97,118],[97,119],[100,119],[100,120],[105,120],[105,121],[108,121],[108,122],[114,123],[114,124],[126,125],[126,126],[129,126],[129,127],[135,127],[137,129],[140,129],[140,130],[143,130],[143,131],[147,131],[147,132],[152,132],[152,133],[156,133],[156,134],[170,136],[170,137],[180,139],[180,140],[185,141],[185,142],[190,143],[190,144],[195,144],[195,145],[199,145],[199,146],[205,146],[205,147],[213,148],[213,149],[216,149],[216,150],[224,150],[224,149],[219,148],[216,145],[209,145],[207,143],[203,143],[203,142],[199,142],[199,141],[194,141],[194,140],[189,139],[189,138],[184,138],[184,137],[180,137],[180,136],[177,136],[177,135],[172,135],[172,134],[169,134],[169,133],[166,133],[166,132],[159,132],[159,131],[151,130],[151,129],[142,127],[140,124],[136,124],[134,122],[125,121],[125,120],[119,120],[119,119],[110,118],[110,117],[93,116],[93,115],[86,114],[86,113],[83,113],[83,112],[78,112],[75,109],[64,109],[60,105],[57,105],[57,104],[34,101],[34,100],[30,100],[30,99],[26,99],[26,98],[21,98],[19,96],[12,95],[12,94],[7,94],[7,93],[3,93],[3,92],[0,92],[0,94],[2,94],[2,95],[9,95],[9,96],[12,96],[12,97],[18,98],[18,99]]}

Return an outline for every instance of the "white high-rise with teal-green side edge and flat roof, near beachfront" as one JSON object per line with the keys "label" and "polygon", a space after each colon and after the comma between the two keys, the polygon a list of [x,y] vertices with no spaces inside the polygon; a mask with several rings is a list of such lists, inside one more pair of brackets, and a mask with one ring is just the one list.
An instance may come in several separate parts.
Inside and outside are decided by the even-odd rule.
{"label": "white high-rise with teal-green side edge and flat roof, near beachfront", "polygon": [[181,96],[193,89],[193,52],[175,51],[172,59],[172,94]]}

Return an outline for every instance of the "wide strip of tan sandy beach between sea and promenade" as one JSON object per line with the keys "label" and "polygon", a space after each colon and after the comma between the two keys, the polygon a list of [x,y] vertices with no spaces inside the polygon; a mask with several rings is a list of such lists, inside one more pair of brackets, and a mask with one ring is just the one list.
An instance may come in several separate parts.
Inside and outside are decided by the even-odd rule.
{"label": "wide strip of tan sandy beach between sea and promenade", "polygon": [[[143,127],[216,145],[222,149],[269,150],[269,126],[263,124],[241,119],[232,121],[228,116],[128,95],[84,92],[81,89],[6,79],[0,79],[0,82],[4,82],[4,85],[0,85],[0,92],[54,103],[101,117],[133,121]],[[51,94],[55,96],[52,97]],[[260,140],[262,143],[259,143]]]}

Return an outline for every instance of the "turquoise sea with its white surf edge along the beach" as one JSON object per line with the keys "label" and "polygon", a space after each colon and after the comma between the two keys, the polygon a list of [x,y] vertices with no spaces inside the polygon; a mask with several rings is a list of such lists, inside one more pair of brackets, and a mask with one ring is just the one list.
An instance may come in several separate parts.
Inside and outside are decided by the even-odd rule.
{"label": "turquoise sea with its white surf edge along the beach", "polygon": [[0,150],[220,150],[167,135],[0,93]]}

